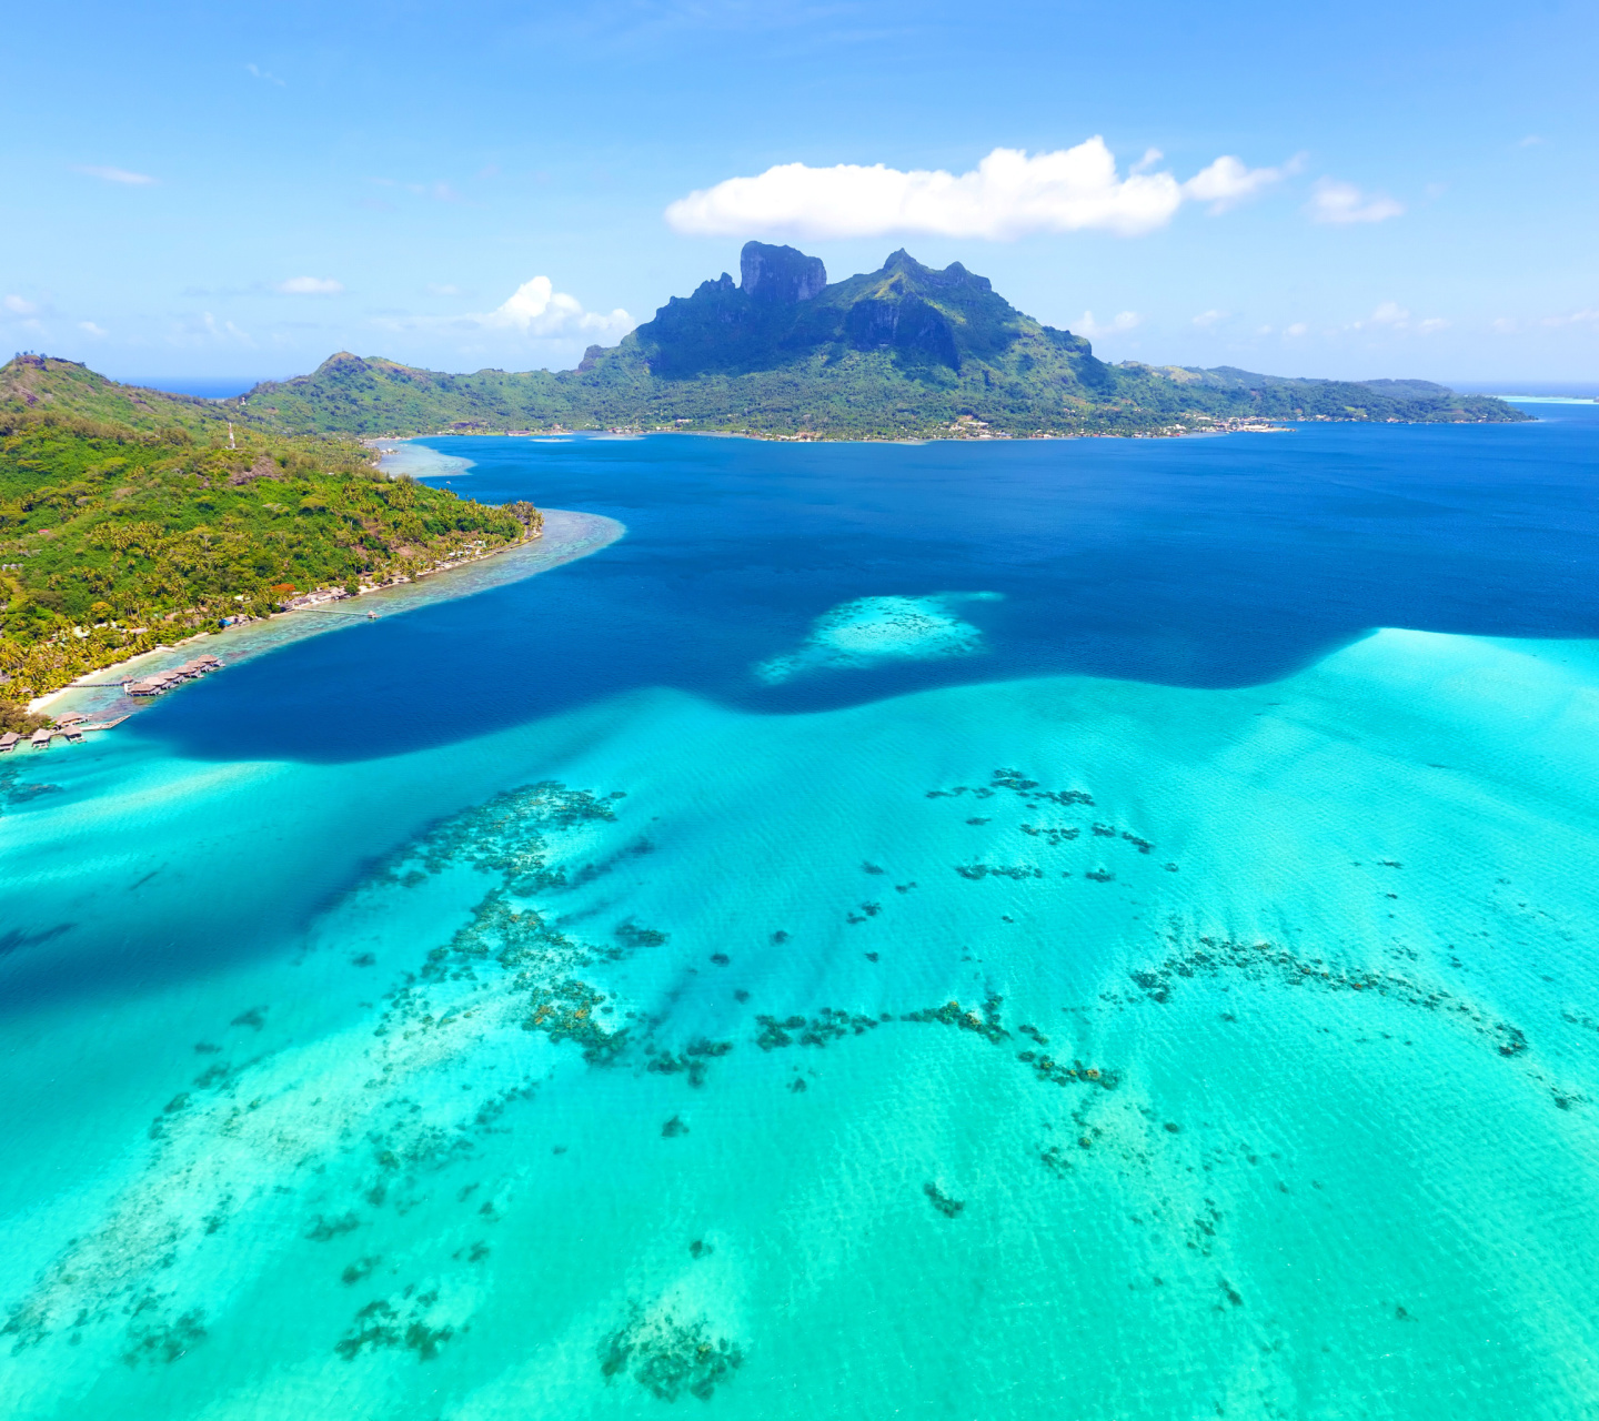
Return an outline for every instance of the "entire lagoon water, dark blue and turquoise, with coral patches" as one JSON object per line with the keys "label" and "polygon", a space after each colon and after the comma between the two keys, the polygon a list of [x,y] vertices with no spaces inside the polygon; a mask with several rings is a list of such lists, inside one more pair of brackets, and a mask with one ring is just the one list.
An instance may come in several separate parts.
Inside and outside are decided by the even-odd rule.
{"label": "entire lagoon water, dark blue and turquoise, with coral patches", "polygon": [[627,532],[0,759],[0,1413],[1599,1416],[1529,408],[413,446]]}

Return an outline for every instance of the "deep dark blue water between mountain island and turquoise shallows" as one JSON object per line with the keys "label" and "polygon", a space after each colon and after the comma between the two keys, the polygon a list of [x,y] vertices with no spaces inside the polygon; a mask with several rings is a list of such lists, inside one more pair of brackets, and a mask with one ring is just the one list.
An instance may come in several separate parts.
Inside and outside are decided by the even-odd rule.
{"label": "deep dark blue water between mountain island and turquoise shallows", "polygon": [[[453,486],[628,535],[544,577],[318,638],[139,730],[222,759],[342,761],[632,687],[755,711],[1086,673],[1270,681],[1374,627],[1599,635],[1599,409],[1524,425],[964,444],[652,436],[435,441]],[[964,604],[988,654],[769,687],[752,665],[860,596]]]}

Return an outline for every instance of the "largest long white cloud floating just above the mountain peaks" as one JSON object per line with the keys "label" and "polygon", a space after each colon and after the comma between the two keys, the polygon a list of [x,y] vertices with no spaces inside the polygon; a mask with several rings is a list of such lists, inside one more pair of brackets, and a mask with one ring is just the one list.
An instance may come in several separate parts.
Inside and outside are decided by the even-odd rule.
{"label": "largest long white cloud floating just above the mountain peaks", "polygon": [[[1199,182],[1201,200],[1226,203],[1265,185],[1257,171],[1276,173],[1222,158],[1191,181]],[[1075,149],[1031,157],[995,149],[959,176],[943,169],[902,173],[883,163],[782,163],[756,177],[729,177],[691,192],[665,216],[678,232],[718,237],[825,240],[918,232],[1009,241],[1031,232],[1084,230],[1140,237],[1170,222],[1191,195],[1170,173],[1135,169],[1122,177],[1105,139],[1091,137]]]}

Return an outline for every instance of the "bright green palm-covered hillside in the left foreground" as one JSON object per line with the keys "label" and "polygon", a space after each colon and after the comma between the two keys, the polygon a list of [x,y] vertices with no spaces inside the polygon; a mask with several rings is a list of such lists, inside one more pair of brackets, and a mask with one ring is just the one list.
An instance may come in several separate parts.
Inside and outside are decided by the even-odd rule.
{"label": "bright green palm-covered hillside in the left foreground", "polygon": [[[35,390],[64,364],[35,364]],[[353,593],[504,547],[542,521],[531,505],[390,480],[352,440],[240,427],[230,448],[208,412],[198,433],[62,412],[83,390],[123,388],[77,371],[59,398],[0,408],[0,694],[11,700],[296,595]]]}

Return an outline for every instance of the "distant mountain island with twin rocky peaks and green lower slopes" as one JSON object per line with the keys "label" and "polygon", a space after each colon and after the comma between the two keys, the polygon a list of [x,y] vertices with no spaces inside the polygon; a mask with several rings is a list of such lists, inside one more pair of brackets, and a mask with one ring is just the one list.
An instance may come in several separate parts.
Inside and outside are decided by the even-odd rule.
{"label": "distant mountain island with twin rocky peaks and green lower slopes", "polygon": [[822,436],[1175,432],[1230,419],[1524,419],[1426,380],[1303,380],[1249,371],[1107,364],[959,262],[903,251],[827,285],[820,261],[748,243],[576,371],[438,374],[331,356],[313,374],[227,401],[235,419],[296,432],[702,428]]}

